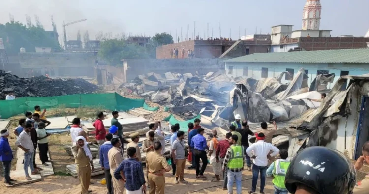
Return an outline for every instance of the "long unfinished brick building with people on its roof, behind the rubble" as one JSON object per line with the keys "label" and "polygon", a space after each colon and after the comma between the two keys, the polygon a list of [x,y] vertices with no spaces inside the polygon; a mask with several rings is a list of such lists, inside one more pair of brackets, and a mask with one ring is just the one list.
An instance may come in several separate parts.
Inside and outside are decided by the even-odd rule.
{"label": "long unfinished brick building with people on its roof, behind the rubble", "polygon": [[[253,53],[267,53],[270,48],[270,39],[252,40],[190,40],[156,48],[156,59],[170,59],[173,49],[178,49],[178,58],[188,58],[188,50],[194,50],[195,58],[218,58],[228,49],[237,49],[232,57],[239,57]],[[231,53],[230,53],[231,54]]]}

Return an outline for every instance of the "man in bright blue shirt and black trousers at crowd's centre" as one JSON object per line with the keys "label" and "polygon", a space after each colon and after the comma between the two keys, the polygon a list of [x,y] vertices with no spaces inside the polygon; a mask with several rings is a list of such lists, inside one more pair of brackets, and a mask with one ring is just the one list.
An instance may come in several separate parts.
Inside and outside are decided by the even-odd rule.
{"label": "man in bright blue shirt and black trousers at crowd's centre", "polygon": [[[206,143],[206,138],[203,136],[205,129],[199,128],[197,129],[197,135],[192,137],[191,139],[191,147],[194,148],[195,153],[195,162],[196,162],[196,178],[204,178],[204,172],[206,169],[206,165],[208,165],[208,157],[206,156],[205,149],[209,150],[209,147]],[[202,161],[202,166],[200,170],[200,159]]]}

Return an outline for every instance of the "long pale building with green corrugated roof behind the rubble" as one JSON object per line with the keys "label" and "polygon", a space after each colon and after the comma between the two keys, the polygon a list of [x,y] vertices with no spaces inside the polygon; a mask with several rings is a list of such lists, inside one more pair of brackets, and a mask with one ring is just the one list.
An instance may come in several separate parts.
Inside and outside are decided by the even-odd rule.
{"label": "long pale building with green corrugated roof behind the rubble", "polygon": [[[304,68],[310,86],[319,74],[335,73],[336,82],[339,76],[369,73],[369,49],[257,53],[224,62],[229,77],[252,77],[258,80],[277,77],[285,71],[296,75],[299,69]],[[293,77],[283,77],[281,82],[288,83]],[[328,89],[332,87],[333,83],[327,86]]]}

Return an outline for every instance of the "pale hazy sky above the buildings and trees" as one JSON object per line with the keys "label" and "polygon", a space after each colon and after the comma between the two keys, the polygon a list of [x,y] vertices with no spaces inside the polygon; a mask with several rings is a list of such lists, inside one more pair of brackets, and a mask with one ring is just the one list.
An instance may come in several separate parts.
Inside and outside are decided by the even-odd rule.
{"label": "pale hazy sky above the buildings and trees", "polygon": [[[9,21],[9,14],[16,21],[25,23],[25,15],[38,15],[45,30],[52,30],[50,16],[54,16],[59,35],[62,23],[86,18],[87,21],[67,27],[67,38],[76,39],[77,31],[86,30],[90,39],[99,31],[120,34],[153,36],[156,32],[168,32],[183,39],[193,34],[196,21],[196,35],[231,38],[255,33],[257,26],[263,34],[271,32],[271,26],[294,25],[301,29],[302,12],[306,0],[1,0],[0,23]],[[332,30],[332,37],[338,35],[363,36],[369,28],[369,0],[321,0],[322,14],[320,29]]]}

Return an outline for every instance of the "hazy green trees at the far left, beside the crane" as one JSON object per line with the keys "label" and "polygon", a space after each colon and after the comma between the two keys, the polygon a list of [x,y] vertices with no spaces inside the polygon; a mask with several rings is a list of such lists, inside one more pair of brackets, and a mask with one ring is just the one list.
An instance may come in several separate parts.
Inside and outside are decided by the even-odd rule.
{"label": "hazy green trees at the far left, beside the crane", "polygon": [[0,24],[0,38],[8,54],[18,54],[21,47],[26,52],[35,52],[35,47],[51,47],[60,50],[60,45],[52,35],[43,28],[31,26],[27,28],[20,22]]}

